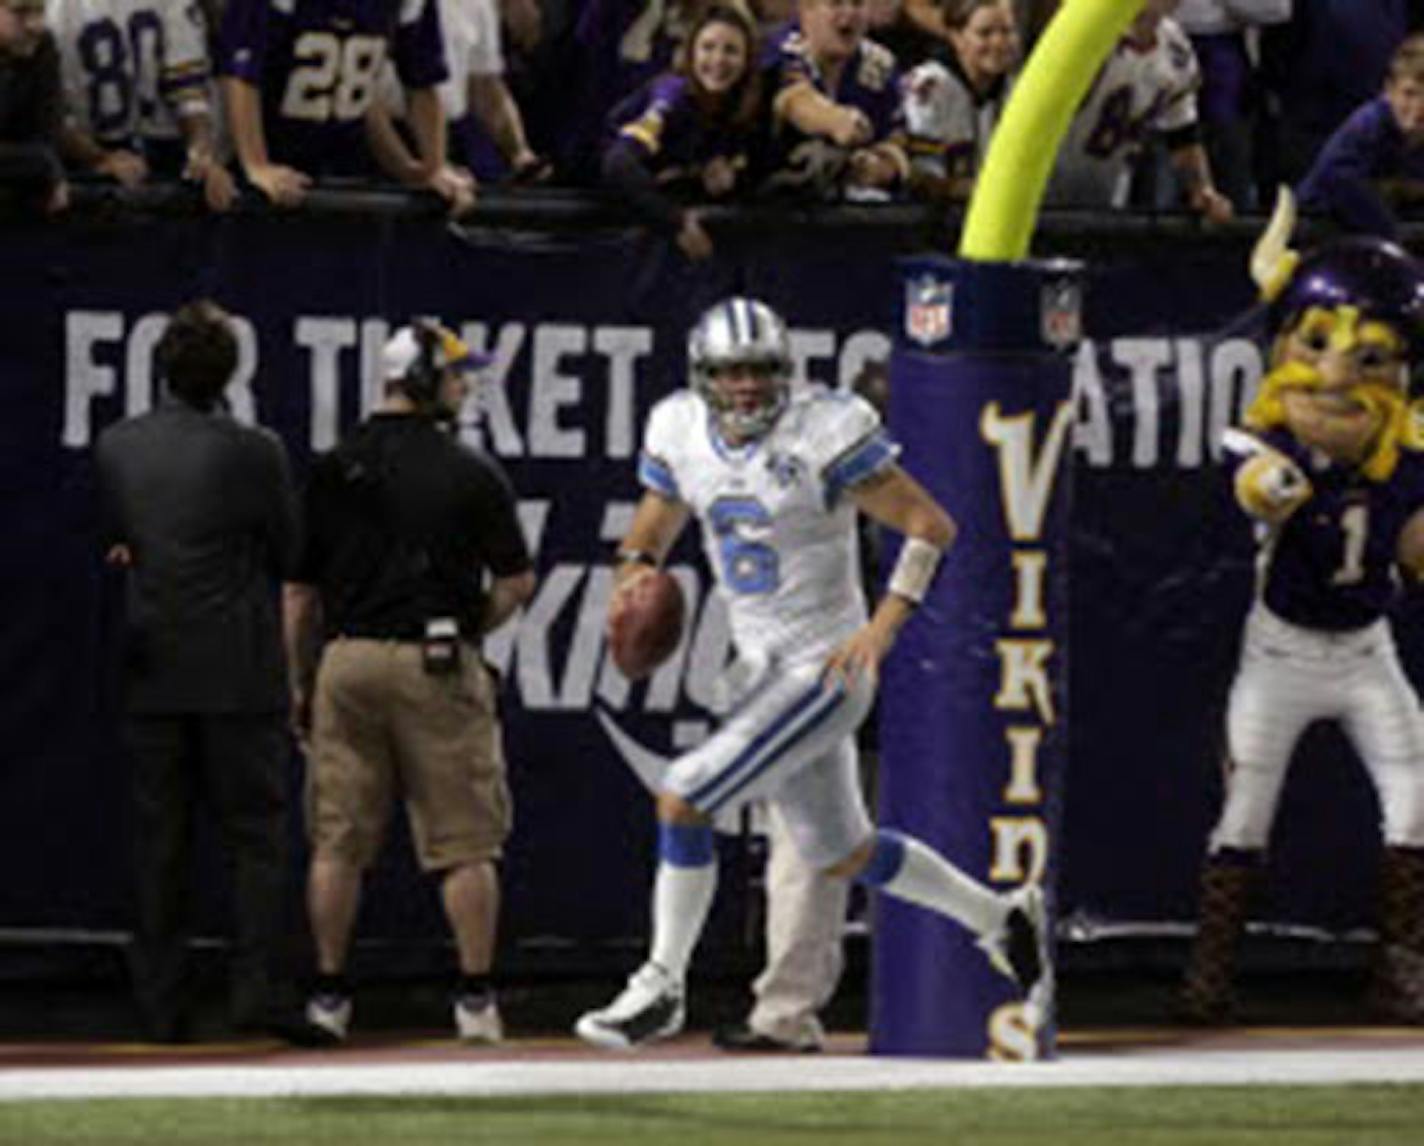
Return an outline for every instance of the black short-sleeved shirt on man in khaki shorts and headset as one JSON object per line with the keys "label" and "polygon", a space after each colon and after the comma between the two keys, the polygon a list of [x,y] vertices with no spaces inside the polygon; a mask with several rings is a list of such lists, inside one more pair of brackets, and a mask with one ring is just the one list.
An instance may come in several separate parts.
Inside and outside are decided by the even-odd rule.
{"label": "black short-sleeved shirt on man in khaki shorts and headset", "polygon": [[431,419],[377,413],[316,460],[296,581],[322,595],[329,635],[416,639],[453,616],[478,634],[483,575],[530,568],[500,464]]}

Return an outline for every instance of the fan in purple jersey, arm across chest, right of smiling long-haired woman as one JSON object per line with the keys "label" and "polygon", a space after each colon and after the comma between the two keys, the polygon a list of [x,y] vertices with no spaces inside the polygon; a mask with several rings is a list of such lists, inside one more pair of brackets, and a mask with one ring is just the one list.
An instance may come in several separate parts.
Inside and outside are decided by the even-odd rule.
{"label": "fan in purple jersey, arm across chest, right of smiling long-haired woman", "polygon": [[910,161],[891,138],[900,101],[894,56],[866,38],[869,0],[800,0],[797,13],[763,56],[772,111],[763,191],[884,196],[910,174]]}

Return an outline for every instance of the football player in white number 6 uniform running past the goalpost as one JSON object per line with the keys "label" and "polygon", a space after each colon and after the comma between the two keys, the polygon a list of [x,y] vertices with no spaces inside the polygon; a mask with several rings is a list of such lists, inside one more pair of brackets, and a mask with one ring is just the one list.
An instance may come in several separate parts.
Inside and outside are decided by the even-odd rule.
{"label": "football player in white number 6 uniform running past the goalpost", "polygon": [[[1047,982],[1042,891],[998,894],[918,840],[877,831],[860,794],[856,726],[954,522],[896,463],[864,399],[792,390],[786,325],[765,303],[733,298],[708,310],[688,364],[691,386],[648,419],[645,493],[619,550],[609,619],[695,517],[728,605],[742,693],[718,732],[664,776],[648,961],[608,1006],[578,1019],[577,1034],[627,1048],[682,1028],[688,964],[716,891],[712,817],[755,799],[772,804],[809,864],[958,921],[1037,1001]],[[906,537],[869,619],[857,512]]]}

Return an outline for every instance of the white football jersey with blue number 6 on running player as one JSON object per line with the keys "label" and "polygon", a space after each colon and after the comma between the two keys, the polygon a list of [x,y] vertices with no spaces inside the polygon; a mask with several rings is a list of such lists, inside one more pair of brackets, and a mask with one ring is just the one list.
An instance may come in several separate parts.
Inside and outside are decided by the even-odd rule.
{"label": "white football jersey with blue number 6 on running player", "polygon": [[797,386],[770,433],[732,448],[699,394],[648,417],[638,477],[688,505],[743,656],[824,656],[866,621],[847,490],[893,464],[874,409],[849,391]]}

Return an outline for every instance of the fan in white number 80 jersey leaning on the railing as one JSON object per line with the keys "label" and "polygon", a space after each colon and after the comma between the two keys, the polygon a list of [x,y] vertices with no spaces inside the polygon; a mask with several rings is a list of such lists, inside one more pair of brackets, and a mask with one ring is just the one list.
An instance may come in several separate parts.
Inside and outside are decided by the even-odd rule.
{"label": "fan in white number 80 jersey leaning on the railing", "polygon": [[216,155],[195,0],[48,0],[47,20],[60,46],[66,157],[124,186],[150,171],[181,174],[226,211],[234,184]]}

